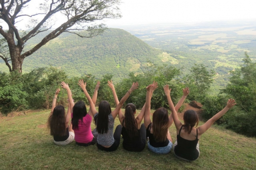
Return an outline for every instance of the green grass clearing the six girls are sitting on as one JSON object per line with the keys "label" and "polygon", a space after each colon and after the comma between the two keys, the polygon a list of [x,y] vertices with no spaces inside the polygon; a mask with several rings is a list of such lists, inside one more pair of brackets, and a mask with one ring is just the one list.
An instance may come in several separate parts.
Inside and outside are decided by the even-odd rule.
{"label": "green grass clearing the six girls are sitting on", "polygon": [[[137,111],[139,113],[140,111]],[[112,153],[97,146],[81,147],[75,142],[57,146],[44,127],[49,110],[26,116],[0,118],[0,169],[255,169],[256,139],[238,135],[219,126],[211,127],[200,138],[200,157],[194,162],[154,154],[146,148],[140,153],[119,148]],[[118,118],[115,126],[119,124]],[[202,124],[202,122],[200,122]],[[41,125],[41,126],[40,126]],[[92,124],[92,128],[94,128]],[[170,127],[173,142],[175,126]],[[122,139],[121,139],[122,143]]]}

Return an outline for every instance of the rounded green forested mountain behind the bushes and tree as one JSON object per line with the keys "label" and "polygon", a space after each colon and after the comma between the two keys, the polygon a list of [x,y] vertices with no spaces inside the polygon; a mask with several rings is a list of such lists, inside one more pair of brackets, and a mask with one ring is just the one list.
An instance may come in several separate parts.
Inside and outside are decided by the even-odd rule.
{"label": "rounded green forested mountain behind the bushes and tree", "polygon": [[[48,33],[32,38],[24,51],[32,48]],[[162,51],[152,48],[122,29],[109,28],[102,35],[93,38],[63,33],[27,57],[23,71],[52,65],[63,69],[69,76],[91,73],[101,77],[109,73],[119,79],[131,71],[142,72],[148,62],[162,63],[163,56],[160,54]]]}

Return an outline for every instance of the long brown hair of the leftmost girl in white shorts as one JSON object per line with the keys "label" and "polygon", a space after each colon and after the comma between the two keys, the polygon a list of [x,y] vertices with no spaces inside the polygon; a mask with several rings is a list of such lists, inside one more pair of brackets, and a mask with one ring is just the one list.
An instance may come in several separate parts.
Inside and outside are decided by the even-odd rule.
{"label": "long brown hair of the leftmost girl in white shorts", "polygon": [[48,128],[50,128],[50,135],[66,135],[66,117],[64,106],[58,105],[53,109],[53,114],[48,118]]}

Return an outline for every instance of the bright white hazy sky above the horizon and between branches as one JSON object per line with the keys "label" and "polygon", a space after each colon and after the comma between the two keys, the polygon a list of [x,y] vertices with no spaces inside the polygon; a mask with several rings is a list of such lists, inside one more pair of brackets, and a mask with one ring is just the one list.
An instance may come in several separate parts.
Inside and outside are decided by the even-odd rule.
{"label": "bright white hazy sky above the horizon and between branches", "polygon": [[[35,14],[43,0],[32,0],[24,13]],[[109,27],[147,23],[202,22],[218,20],[256,19],[256,0],[122,0],[122,18],[105,20]],[[28,17],[27,17],[28,19]],[[27,20],[17,23],[18,29],[27,29]],[[63,22],[59,15],[54,28]],[[65,18],[64,18],[65,20]],[[1,23],[6,29],[6,25]]]}

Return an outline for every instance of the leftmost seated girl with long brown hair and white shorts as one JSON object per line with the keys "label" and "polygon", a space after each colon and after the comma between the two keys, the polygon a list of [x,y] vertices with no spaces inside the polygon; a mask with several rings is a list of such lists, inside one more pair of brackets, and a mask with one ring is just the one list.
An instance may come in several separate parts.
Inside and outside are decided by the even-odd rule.
{"label": "leftmost seated girl with long brown hair and white shorts", "polygon": [[[68,94],[71,91],[67,89]],[[53,98],[53,104],[51,106],[51,112],[48,118],[48,128],[50,128],[50,135],[53,136],[54,143],[57,145],[66,145],[71,143],[75,134],[72,130],[72,124],[69,126],[69,120],[71,117],[70,107],[74,104],[73,100],[69,100],[69,107],[67,109],[67,114],[65,115],[65,108],[62,105],[56,106],[56,100],[60,89],[55,91],[55,96]]]}

